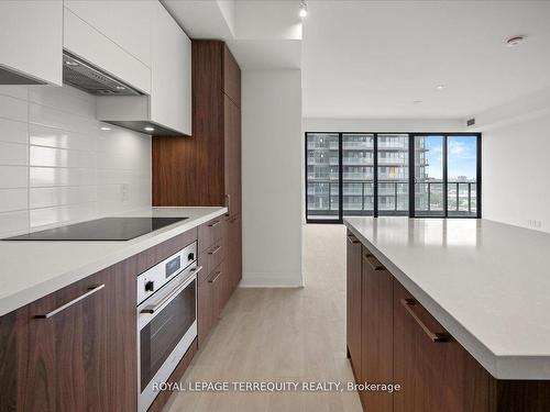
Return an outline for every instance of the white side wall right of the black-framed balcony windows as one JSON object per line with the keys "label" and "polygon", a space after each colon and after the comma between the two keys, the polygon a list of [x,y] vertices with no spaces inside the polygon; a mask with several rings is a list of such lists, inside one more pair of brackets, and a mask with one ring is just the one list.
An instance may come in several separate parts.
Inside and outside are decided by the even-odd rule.
{"label": "white side wall right of the black-framed balcony windows", "polygon": [[487,130],[482,144],[483,218],[550,232],[550,113]]}

